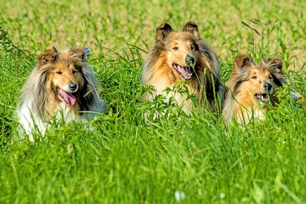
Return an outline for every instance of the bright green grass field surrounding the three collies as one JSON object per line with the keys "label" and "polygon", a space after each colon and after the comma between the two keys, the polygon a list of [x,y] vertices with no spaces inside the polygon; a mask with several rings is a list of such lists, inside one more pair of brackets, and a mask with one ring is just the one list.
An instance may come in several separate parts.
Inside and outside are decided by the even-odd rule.
{"label": "bright green grass field surrounding the three collies", "polygon": [[[187,21],[219,56],[280,56],[306,96],[304,1],[6,1],[0,4],[0,203],[306,203],[306,109],[281,90],[267,119],[240,128],[204,110],[141,103],[139,74],[155,29]],[[46,140],[19,141],[14,111],[37,54],[89,47],[109,112]],[[151,108],[151,105],[154,105]],[[147,111],[175,113],[144,123]],[[39,139],[39,136],[37,136]],[[177,199],[181,194],[181,199]],[[184,194],[182,196],[182,194]],[[175,196],[176,195],[176,196]]]}

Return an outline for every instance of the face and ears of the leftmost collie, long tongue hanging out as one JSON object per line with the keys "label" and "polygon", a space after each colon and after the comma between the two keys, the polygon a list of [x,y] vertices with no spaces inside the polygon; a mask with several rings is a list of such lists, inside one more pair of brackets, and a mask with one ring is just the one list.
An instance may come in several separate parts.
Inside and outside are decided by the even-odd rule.
{"label": "face and ears of the leftmost collie, long tongue hanging out", "polygon": [[83,60],[83,50],[75,48],[63,53],[53,48],[39,56],[38,66],[49,71],[47,81],[55,98],[70,106],[77,102],[75,94],[84,86],[85,80],[80,66]]}

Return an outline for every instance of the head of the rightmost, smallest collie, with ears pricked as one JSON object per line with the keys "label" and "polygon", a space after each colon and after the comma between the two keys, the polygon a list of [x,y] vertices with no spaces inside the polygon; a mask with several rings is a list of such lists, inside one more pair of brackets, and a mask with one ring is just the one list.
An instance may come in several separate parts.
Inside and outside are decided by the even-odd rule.
{"label": "head of the rightmost, smallest collie, with ears pricked", "polygon": [[271,57],[260,64],[254,64],[248,56],[237,57],[234,61],[234,73],[240,82],[236,81],[239,86],[235,92],[260,104],[265,104],[270,99],[277,100],[276,89],[283,86],[282,68],[282,60],[277,57]]}

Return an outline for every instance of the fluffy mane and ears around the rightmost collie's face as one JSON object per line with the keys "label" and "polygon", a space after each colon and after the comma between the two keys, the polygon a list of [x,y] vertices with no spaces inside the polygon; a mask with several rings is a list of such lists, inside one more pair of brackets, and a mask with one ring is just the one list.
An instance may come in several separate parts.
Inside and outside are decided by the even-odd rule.
{"label": "fluffy mane and ears around the rightmost collie's face", "polygon": [[233,117],[238,117],[239,121],[248,121],[252,113],[254,117],[264,118],[261,111],[265,110],[265,106],[259,105],[254,99],[253,93],[247,90],[245,85],[249,82],[252,70],[258,70],[261,73],[269,72],[273,79],[271,83],[274,84],[273,94],[270,95],[270,102],[274,105],[279,102],[275,96],[275,88],[288,84],[282,68],[283,62],[278,57],[269,57],[259,64],[254,64],[252,58],[248,55],[239,55],[234,60],[234,69],[227,83],[228,89],[222,107],[223,118],[226,121],[231,121]]}

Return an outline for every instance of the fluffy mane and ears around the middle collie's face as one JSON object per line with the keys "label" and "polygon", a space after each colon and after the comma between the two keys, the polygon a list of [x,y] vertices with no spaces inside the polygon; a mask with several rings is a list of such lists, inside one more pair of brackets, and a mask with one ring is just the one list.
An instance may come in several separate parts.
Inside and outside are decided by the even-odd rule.
{"label": "fluffy mane and ears around the middle collie's face", "polygon": [[[223,85],[219,78],[220,65],[213,49],[200,37],[197,25],[194,22],[188,22],[179,33],[175,33],[169,24],[164,23],[157,28],[156,32],[155,41],[143,65],[141,83],[152,85],[157,91],[153,95],[145,95],[144,99],[152,99],[155,95],[165,94],[163,91],[167,87],[172,87],[181,80],[173,67],[169,65],[171,43],[180,40],[180,42],[192,44],[196,58],[194,78],[185,82],[185,85],[191,87],[190,91],[197,96],[199,105],[203,106],[208,101],[210,109],[215,111],[215,99],[222,98],[223,92]],[[184,100],[181,96],[174,97],[179,104]],[[190,103],[187,104],[185,108],[190,109]]]}

